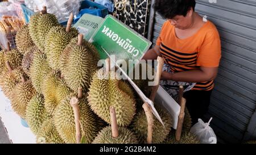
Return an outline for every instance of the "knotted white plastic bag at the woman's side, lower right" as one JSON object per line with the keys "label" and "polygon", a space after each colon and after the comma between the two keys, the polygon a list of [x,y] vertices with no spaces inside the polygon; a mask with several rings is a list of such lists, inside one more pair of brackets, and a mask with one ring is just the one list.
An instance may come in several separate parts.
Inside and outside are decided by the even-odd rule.
{"label": "knotted white plastic bag at the woman's side, lower right", "polygon": [[197,137],[196,139],[201,144],[217,143],[217,137],[213,129],[209,126],[211,120],[212,118],[210,118],[208,123],[204,123],[203,120],[198,119],[198,122],[190,129],[190,132]]}

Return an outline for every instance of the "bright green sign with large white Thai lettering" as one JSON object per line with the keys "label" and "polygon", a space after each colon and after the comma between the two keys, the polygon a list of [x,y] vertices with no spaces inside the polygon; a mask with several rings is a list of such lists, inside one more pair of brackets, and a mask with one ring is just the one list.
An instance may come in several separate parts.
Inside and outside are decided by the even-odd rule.
{"label": "bright green sign with large white Thai lettering", "polygon": [[105,50],[116,60],[140,60],[151,45],[150,41],[112,15],[106,16],[90,42],[97,48],[101,59],[108,57]]}

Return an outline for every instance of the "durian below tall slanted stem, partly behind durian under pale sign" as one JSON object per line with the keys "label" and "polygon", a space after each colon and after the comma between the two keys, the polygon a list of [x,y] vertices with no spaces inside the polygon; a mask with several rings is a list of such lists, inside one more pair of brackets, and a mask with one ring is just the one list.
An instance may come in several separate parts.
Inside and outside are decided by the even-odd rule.
{"label": "durian below tall slanted stem, partly behind durian under pale sign", "polygon": [[60,56],[69,41],[78,35],[78,31],[71,28],[66,32],[62,26],[52,27],[46,36],[46,55],[52,69],[60,70]]}

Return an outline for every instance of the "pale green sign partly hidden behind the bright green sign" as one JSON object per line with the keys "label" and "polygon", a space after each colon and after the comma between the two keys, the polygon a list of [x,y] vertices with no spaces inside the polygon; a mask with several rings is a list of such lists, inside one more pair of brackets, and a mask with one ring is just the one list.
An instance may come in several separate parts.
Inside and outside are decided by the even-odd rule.
{"label": "pale green sign partly hidden behind the bright green sign", "polygon": [[100,16],[84,14],[73,27],[75,27],[79,33],[82,33],[84,35],[84,39],[88,41],[93,36],[93,33],[96,32],[103,20],[104,19]]}

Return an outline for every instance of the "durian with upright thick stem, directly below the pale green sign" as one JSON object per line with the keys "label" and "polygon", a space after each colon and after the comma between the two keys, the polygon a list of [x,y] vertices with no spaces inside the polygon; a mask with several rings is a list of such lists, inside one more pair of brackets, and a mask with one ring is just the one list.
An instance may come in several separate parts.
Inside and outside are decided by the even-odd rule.
{"label": "durian with upright thick stem, directly below the pale green sign", "polygon": [[67,64],[61,70],[61,75],[73,91],[78,89],[88,91],[92,74],[97,69],[96,64],[93,63],[94,57],[81,43],[82,35],[79,35],[79,43],[67,47],[70,49]]}

